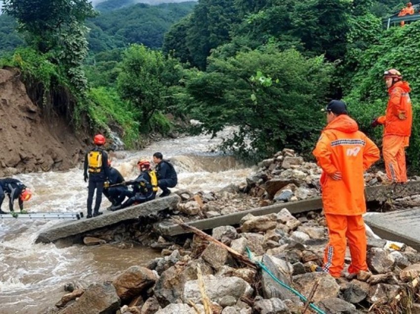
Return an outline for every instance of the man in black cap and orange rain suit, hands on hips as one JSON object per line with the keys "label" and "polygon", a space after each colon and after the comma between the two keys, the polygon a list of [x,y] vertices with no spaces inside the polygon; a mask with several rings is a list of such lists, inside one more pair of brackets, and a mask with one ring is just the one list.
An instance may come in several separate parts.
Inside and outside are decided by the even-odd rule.
{"label": "man in black cap and orange rain suit, hands on hips", "polygon": [[379,149],[359,131],[342,101],[331,101],[326,112],[328,124],[313,151],[322,168],[322,203],[330,238],[322,270],[339,277],[347,242],[351,254],[349,274],[368,270],[362,217],[366,212],[363,174],[379,159]]}

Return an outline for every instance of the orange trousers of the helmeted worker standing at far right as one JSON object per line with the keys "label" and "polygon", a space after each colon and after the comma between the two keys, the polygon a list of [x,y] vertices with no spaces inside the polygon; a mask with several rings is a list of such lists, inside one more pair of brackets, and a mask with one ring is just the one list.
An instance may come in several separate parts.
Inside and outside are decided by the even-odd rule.
{"label": "orange trousers of the helmeted worker standing at far right", "polygon": [[392,182],[407,182],[405,147],[408,136],[385,135],[382,139],[382,155],[386,176]]}

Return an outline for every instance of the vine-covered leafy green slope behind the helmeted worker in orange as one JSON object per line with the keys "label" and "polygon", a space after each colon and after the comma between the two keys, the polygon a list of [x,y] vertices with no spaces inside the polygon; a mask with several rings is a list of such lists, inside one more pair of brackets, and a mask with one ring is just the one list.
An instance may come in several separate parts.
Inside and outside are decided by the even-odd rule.
{"label": "vine-covered leafy green slope behind the helmeted worker in orange", "polygon": [[372,129],[373,118],[383,115],[388,95],[383,82],[383,72],[395,68],[401,71],[410,83],[413,103],[413,131],[408,152],[408,163],[412,171],[420,170],[420,108],[418,91],[420,90],[420,56],[415,53],[419,47],[419,22],[405,27],[394,27],[380,34],[376,43],[360,54],[357,71],[353,73],[345,99],[352,115],[357,118],[361,128],[381,142],[382,130]]}

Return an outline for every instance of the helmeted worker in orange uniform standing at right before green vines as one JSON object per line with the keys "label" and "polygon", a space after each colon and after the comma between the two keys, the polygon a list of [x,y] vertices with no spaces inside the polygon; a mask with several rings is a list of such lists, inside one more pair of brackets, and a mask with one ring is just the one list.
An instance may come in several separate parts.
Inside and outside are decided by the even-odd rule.
{"label": "helmeted worker in orange uniform standing at right before green vines", "polygon": [[410,85],[402,80],[398,70],[385,71],[383,78],[388,88],[389,100],[385,116],[376,118],[372,127],[384,125],[382,155],[386,175],[390,182],[407,182],[405,148],[408,147],[413,122]]}

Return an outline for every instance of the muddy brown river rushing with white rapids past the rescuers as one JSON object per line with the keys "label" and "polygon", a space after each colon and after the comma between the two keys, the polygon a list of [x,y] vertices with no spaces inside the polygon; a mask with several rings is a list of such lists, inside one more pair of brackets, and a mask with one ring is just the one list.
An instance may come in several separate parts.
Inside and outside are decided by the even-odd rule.
{"label": "muddy brown river rushing with white rapids past the rescuers", "polygon": [[[225,136],[229,129],[225,130]],[[148,148],[111,154],[113,166],[126,179],[137,176],[136,161],[152,159],[160,151],[178,172],[177,189],[191,192],[217,191],[240,183],[252,169],[233,157],[210,153],[220,138],[201,135],[157,142]],[[66,172],[31,173],[15,176],[34,193],[25,204],[30,212],[86,211],[87,189],[82,164]],[[8,211],[6,197],[2,209]],[[17,204],[16,204],[17,205]],[[110,203],[103,199],[102,209]],[[63,295],[64,284],[72,281],[110,280],[132,265],[144,265],[160,256],[147,247],[120,249],[113,244],[97,247],[35,244],[37,235],[57,221],[0,220],[0,314],[44,313]]]}

